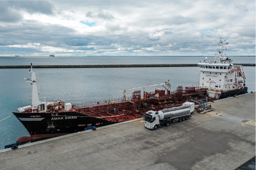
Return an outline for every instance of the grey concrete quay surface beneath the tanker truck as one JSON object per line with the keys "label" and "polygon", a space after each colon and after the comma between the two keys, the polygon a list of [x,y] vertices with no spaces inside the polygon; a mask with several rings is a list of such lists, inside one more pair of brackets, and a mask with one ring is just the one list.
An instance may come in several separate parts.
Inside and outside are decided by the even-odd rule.
{"label": "grey concrete quay surface beneath the tanker truck", "polygon": [[157,130],[143,118],[18,149],[0,150],[0,169],[236,169],[255,156],[255,93]]}

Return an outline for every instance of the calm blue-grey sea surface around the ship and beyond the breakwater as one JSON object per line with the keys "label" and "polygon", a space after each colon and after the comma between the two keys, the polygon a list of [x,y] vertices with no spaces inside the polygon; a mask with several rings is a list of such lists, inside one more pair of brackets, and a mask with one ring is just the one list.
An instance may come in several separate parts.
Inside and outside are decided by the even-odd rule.
{"label": "calm blue-grey sea surface around the ship and beyond the breakwater", "polygon": [[[208,57],[208,60],[214,58]],[[255,57],[233,57],[233,63],[255,63]],[[204,57],[0,57],[0,65],[80,65],[80,64],[196,64]],[[246,86],[255,91],[255,67],[244,66]],[[41,101],[60,99],[67,103],[121,98],[123,90],[156,83],[198,86],[198,67],[34,69],[39,74]],[[0,69],[0,149],[29,135],[12,109],[31,104],[29,69]],[[154,91],[156,87],[146,88]],[[157,87],[159,88],[159,87]],[[143,90],[143,89],[142,89]],[[131,96],[127,91],[126,96]]]}

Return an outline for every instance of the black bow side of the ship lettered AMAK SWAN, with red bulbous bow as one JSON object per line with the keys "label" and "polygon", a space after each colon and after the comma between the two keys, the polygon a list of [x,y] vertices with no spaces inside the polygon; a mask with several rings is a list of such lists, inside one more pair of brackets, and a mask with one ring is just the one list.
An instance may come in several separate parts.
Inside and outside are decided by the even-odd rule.
{"label": "black bow side of the ship lettered AMAK SWAN, with red bulbous bow", "polygon": [[12,112],[30,133],[30,137],[22,137],[18,139],[17,142],[58,137],[60,135],[84,131],[86,127],[90,126],[102,126],[115,123],[73,111],[22,113],[19,109],[14,109]]}

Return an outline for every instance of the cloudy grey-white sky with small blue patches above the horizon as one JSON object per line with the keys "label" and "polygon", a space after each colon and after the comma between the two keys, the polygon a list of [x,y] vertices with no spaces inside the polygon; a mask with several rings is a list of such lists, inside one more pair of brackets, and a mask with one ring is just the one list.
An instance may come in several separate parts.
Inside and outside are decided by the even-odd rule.
{"label": "cloudy grey-white sky with small blue patches above the horizon", "polygon": [[0,1],[0,56],[255,55],[255,1]]}

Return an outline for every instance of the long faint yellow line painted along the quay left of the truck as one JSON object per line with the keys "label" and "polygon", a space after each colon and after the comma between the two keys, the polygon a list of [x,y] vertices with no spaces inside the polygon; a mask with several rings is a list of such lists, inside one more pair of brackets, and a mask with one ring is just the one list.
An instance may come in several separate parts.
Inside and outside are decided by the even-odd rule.
{"label": "long faint yellow line painted along the quay left of the truck", "polygon": [[42,158],[37,158],[37,159],[34,159],[34,160],[29,160],[28,162],[20,163],[20,164],[13,165],[13,166],[9,166],[9,167],[6,167],[6,168],[2,168],[2,169],[0,169],[0,170],[7,169],[7,168],[11,168],[11,167],[15,167],[15,166],[19,166],[19,165],[23,165],[23,164],[27,164],[27,163],[31,163],[31,162],[34,162],[35,160],[39,160],[39,159],[43,159],[43,158],[47,158],[47,157],[51,157],[51,156],[55,156],[55,155],[59,155],[59,154],[63,154],[63,153],[65,153],[65,152],[69,152],[69,151],[72,151],[72,150],[76,150],[76,149],[84,148],[84,147],[91,146],[91,145],[95,145],[95,144],[97,144],[97,143],[101,143],[101,142],[106,142],[106,141],[109,141],[109,140],[112,140],[112,139],[116,139],[116,138],[124,137],[124,136],[126,136],[126,135],[133,134],[133,133],[137,133],[137,132],[141,132],[141,131],[145,131],[145,130],[146,130],[146,129],[143,129],[143,130],[140,130],[140,131],[136,131],[136,132],[132,132],[132,133],[128,133],[128,134],[124,134],[124,135],[121,135],[121,136],[119,136],[119,137],[110,138],[110,139],[102,140],[102,141],[99,141],[99,142],[91,143],[91,144],[89,144],[89,145],[85,145],[85,146],[82,146],[82,147],[78,147],[78,148],[74,148],[74,149],[66,150],[66,151],[63,151],[63,152],[59,152],[59,153],[57,153],[57,154],[53,154],[53,155],[49,155],[49,156],[45,156],[45,157],[42,157]]}

